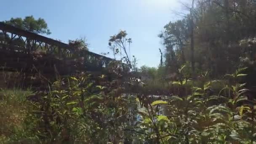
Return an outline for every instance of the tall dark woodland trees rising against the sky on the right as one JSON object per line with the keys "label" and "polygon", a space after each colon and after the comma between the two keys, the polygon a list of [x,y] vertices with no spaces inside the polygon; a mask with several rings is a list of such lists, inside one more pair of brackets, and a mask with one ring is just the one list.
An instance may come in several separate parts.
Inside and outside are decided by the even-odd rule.
{"label": "tall dark woodland trees rising against the sky on the right", "polygon": [[184,6],[190,13],[166,24],[159,35],[166,48],[168,72],[195,63],[190,75],[208,71],[212,78],[219,78],[240,67],[241,59],[255,59],[256,5],[252,0],[195,0],[193,11]]}

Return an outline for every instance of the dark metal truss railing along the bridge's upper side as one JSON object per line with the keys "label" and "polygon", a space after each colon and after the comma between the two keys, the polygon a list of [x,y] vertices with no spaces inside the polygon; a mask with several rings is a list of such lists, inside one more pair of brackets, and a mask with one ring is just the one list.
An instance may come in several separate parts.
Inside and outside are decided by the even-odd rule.
{"label": "dark metal truss railing along the bridge's upper side", "polygon": [[59,59],[83,58],[85,67],[94,67],[96,69],[107,67],[110,61],[113,60],[86,50],[79,51],[78,55],[74,54],[72,48],[66,43],[37,35],[3,22],[0,22],[0,50],[21,53],[44,51],[45,53],[54,54]]}

